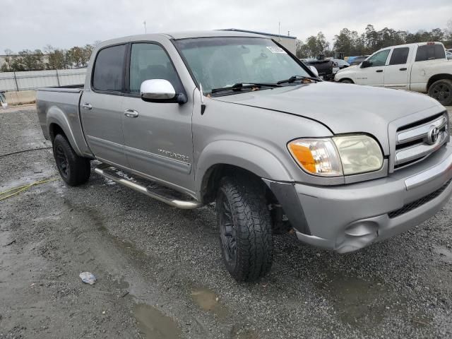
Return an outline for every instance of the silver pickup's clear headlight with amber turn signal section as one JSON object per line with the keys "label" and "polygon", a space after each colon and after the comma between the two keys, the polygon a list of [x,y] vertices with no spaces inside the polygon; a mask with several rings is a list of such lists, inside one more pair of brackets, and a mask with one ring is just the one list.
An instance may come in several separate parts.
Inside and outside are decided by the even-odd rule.
{"label": "silver pickup's clear headlight with amber turn signal section", "polygon": [[321,177],[374,172],[383,165],[379,144],[364,135],[297,139],[287,148],[302,169]]}

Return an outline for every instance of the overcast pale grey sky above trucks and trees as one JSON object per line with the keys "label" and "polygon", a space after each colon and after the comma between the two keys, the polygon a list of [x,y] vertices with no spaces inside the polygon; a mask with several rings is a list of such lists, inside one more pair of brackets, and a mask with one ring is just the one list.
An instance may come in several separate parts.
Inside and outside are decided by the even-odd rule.
{"label": "overcast pale grey sky above trucks and trees", "polygon": [[0,0],[4,49],[70,48],[125,35],[239,28],[328,41],[342,28],[431,30],[452,20],[452,0]]}

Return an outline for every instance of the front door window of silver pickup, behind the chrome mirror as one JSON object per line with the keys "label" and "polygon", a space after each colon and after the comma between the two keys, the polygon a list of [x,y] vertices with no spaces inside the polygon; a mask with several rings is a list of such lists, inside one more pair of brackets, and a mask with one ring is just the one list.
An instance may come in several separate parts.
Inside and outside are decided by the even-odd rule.
{"label": "front door window of silver pickup, behind the chrome mirror", "polygon": [[182,83],[165,49],[158,44],[132,44],[130,56],[130,93],[140,94],[145,80],[165,79],[172,83],[176,93],[182,92]]}

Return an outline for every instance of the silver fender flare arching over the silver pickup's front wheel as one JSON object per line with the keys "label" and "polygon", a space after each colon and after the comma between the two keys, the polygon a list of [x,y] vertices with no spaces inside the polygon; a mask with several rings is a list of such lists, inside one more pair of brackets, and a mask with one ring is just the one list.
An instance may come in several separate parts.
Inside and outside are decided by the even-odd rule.
{"label": "silver fender flare arching over the silver pickup's front wheel", "polygon": [[201,152],[196,164],[196,192],[201,192],[209,169],[215,165],[232,165],[246,169],[258,177],[280,182],[292,182],[278,157],[261,146],[243,141],[214,141]]}

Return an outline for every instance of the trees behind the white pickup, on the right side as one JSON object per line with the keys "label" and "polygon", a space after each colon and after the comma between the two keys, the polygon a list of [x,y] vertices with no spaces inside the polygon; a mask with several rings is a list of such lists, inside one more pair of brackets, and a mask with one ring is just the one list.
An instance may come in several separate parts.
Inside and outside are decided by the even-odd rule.
{"label": "trees behind the white pickup, on the right side", "polygon": [[396,44],[410,44],[414,42],[440,41],[446,48],[452,47],[452,20],[449,20],[446,29],[434,28],[430,31],[419,30],[415,33],[406,30],[393,30],[383,28],[375,30],[373,25],[367,25],[364,32],[359,34],[356,30],[343,28],[333,39],[333,48],[326,41],[325,35],[319,32],[312,35],[304,42],[301,40],[297,44],[296,55],[299,58],[317,57],[325,54],[326,57],[333,57],[333,52],[343,52],[345,57],[355,55],[367,55],[377,50],[393,46]]}

